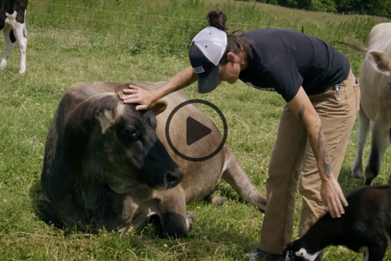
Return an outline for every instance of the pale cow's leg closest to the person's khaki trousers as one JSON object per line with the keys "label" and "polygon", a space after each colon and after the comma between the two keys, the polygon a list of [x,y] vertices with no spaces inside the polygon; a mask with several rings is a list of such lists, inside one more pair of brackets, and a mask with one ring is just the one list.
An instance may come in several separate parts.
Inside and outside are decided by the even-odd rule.
{"label": "pale cow's leg closest to the person's khaki trousers", "polygon": [[359,128],[357,131],[357,152],[356,152],[355,161],[351,168],[353,179],[362,178],[362,154],[364,151],[366,140],[368,139],[368,135],[369,135],[369,125],[370,125],[370,120],[360,104],[359,105]]}

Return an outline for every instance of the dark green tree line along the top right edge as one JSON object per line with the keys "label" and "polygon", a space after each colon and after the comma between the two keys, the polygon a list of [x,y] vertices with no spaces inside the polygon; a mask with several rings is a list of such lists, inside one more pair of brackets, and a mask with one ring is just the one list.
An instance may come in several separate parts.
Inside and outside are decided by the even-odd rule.
{"label": "dark green tree line along the top right edge", "polygon": [[[239,0],[254,1],[254,0]],[[317,12],[350,12],[391,17],[391,0],[255,0],[260,3],[281,5]]]}

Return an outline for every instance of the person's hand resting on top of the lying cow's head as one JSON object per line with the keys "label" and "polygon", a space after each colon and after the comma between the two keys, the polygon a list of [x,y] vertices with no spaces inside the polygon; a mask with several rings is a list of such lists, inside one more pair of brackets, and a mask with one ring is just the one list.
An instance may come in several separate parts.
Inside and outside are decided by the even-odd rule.
{"label": "person's hand resting on top of the lying cow's head", "polygon": [[129,89],[123,89],[123,93],[129,93],[129,95],[123,95],[123,103],[138,103],[136,110],[145,110],[150,104],[154,102],[153,91],[145,91],[137,86],[129,85]]}

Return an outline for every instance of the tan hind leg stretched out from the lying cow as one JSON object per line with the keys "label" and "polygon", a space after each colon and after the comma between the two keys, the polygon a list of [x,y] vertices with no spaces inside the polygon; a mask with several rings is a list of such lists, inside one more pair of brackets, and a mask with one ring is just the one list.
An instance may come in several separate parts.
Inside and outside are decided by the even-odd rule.
{"label": "tan hind leg stretched out from the lying cow", "polygon": [[227,150],[226,160],[229,162],[226,170],[223,172],[222,179],[231,185],[241,198],[265,212],[266,198],[251,184],[250,179],[248,179],[246,172],[241,168],[232,150],[228,146],[224,149]]}

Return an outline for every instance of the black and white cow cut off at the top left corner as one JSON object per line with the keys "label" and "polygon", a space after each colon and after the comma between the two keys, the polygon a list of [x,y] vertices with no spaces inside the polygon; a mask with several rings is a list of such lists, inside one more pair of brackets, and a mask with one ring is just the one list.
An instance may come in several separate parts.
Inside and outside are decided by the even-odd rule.
{"label": "black and white cow cut off at the top left corner", "polygon": [[25,26],[28,0],[0,0],[0,30],[3,31],[5,52],[1,59],[0,70],[7,65],[12,48],[18,42],[21,52],[21,67],[19,73],[26,71],[27,30]]}

